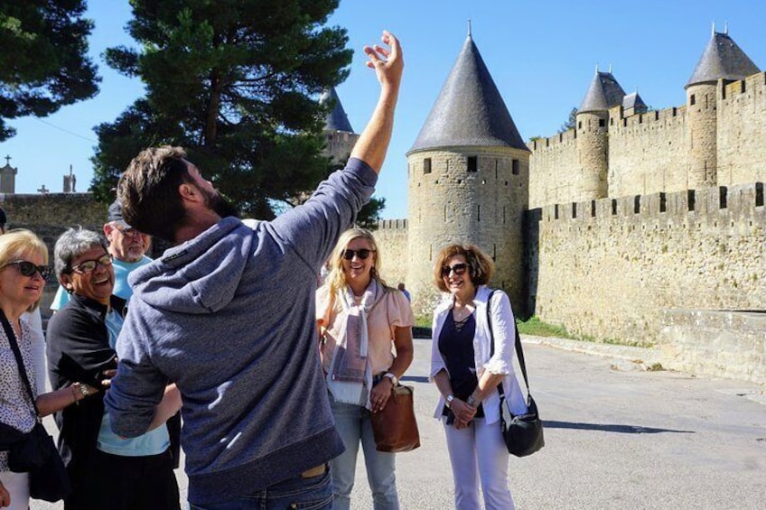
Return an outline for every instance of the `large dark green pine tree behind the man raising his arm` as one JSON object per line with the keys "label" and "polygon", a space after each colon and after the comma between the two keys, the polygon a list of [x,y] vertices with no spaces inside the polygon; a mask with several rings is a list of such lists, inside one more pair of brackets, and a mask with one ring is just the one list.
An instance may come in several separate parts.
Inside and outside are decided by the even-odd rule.
{"label": "large dark green pine tree behind the man raising his arm", "polygon": [[133,0],[140,50],[109,48],[109,66],[146,96],[98,126],[93,190],[107,200],[146,146],[186,149],[244,216],[268,219],[330,172],[327,111],[316,97],[348,76],[345,29],[326,27],[338,0]]}

